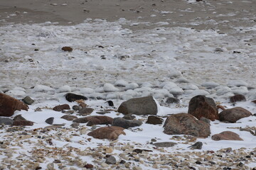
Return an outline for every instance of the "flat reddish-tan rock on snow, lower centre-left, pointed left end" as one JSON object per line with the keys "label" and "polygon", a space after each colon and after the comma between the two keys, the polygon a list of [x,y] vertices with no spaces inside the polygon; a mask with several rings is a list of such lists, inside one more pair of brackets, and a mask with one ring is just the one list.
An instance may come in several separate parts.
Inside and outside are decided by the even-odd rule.
{"label": "flat reddish-tan rock on snow, lower centre-left, pointed left end", "polygon": [[117,127],[117,126],[110,126],[110,127],[97,128],[96,130],[89,132],[87,135],[97,139],[117,140],[119,135],[126,135],[126,134],[124,132],[124,128]]}

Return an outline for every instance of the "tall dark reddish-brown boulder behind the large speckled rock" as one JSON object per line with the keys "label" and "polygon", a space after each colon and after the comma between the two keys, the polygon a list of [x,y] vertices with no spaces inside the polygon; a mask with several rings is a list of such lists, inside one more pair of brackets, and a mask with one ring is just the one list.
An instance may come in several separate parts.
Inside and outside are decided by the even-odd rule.
{"label": "tall dark reddish-brown boulder behind the large speckled rock", "polygon": [[191,98],[188,105],[188,114],[200,119],[202,117],[208,118],[212,121],[218,120],[218,108],[213,98],[198,95]]}

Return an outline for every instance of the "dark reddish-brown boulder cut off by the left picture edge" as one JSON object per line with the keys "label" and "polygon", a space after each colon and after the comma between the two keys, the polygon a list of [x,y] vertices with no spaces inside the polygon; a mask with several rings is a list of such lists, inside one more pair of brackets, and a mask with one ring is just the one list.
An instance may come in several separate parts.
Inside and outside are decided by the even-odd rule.
{"label": "dark reddish-brown boulder cut off by the left picture edge", "polygon": [[10,117],[14,111],[28,111],[28,106],[16,98],[0,93],[0,116]]}

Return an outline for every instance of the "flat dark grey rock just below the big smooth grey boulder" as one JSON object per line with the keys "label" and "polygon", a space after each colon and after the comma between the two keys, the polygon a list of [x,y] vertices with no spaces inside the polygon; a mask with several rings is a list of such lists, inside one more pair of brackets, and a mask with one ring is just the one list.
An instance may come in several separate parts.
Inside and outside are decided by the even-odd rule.
{"label": "flat dark grey rock just below the big smooth grey boulder", "polygon": [[126,120],[123,118],[114,118],[112,125],[128,129],[128,128],[142,125],[142,121],[141,120]]}

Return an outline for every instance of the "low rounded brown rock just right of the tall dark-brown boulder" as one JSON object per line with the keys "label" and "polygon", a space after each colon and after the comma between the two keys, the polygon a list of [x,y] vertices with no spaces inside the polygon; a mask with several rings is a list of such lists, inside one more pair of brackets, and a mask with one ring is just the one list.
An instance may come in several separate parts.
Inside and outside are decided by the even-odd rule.
{"label": "low rounded brown rock just right of the tall dark-brown boulder", "polygon": [[241,118],[246,118],[251,116],[252,113],[250,111],[247,111],[245,108],[229,108],[225,111],[220,112],[219,117],[220,121],[228,121],[230,123],[235,123],[237,120],[240,120]]}

